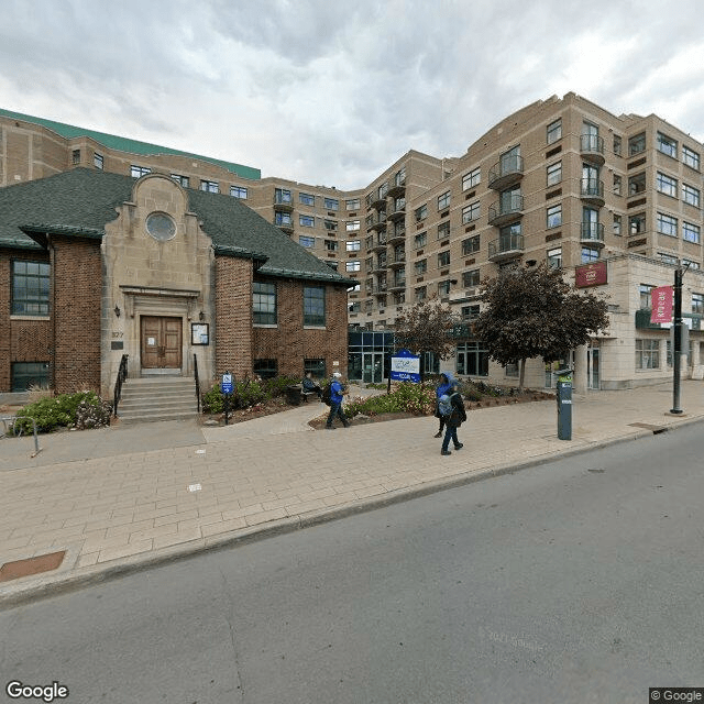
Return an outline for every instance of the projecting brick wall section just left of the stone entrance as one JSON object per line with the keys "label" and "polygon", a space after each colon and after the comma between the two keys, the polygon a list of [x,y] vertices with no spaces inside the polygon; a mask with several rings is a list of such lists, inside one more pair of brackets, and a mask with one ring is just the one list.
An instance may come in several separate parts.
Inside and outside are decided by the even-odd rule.
{"label": "projecting brick wall section just left of the stone entrance", "polygon": [[57,393],[100,389],[100,242],[54,237],[54,378]]}

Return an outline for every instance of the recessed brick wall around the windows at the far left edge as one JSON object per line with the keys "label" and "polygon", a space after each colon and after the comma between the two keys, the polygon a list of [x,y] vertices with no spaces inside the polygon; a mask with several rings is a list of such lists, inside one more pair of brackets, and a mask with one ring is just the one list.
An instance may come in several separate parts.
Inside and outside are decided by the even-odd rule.
{"label": "recessed brick wall around the windows at the far left edge", "polygon": [[12,362],[50,362],[53,348],[50,320],[11,319],[12,260],[48,262],[48,254],[0,250],[0,392],[12,388]]}

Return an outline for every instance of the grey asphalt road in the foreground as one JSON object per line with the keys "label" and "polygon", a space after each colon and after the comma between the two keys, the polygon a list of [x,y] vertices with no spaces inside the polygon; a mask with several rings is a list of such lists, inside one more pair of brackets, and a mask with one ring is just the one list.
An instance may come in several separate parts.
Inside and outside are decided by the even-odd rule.
{"label": "grey asphalt road in the foreground", "polygon": [[1,612],[3,696],[645,704],[704,686],[703,458],[690,426]]}

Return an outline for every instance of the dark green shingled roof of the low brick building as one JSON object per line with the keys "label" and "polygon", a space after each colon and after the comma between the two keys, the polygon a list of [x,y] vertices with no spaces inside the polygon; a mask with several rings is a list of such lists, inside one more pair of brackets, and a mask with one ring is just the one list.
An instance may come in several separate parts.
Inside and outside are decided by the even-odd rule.
{"label": "dark green shingled roof of the low brick building", "polygon": [[[132,199],[129,176],[76,168],[0,188],[0,245],[40,249],[30,234],[101,238],[116,208]],[[217,254],[264,261],[262,274],[353,285],[239,198],[186,189],[189,209],[212,240]]]}

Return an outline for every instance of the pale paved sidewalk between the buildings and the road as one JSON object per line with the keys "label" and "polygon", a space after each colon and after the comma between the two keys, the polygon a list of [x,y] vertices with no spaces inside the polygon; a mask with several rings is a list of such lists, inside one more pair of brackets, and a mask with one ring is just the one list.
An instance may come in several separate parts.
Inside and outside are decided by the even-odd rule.
{"label": "pale paved sidewalk between the buildings and the road", "polygon": [[704,420],[704,384],[575,395],[572,440],[556,403],[469,413],[440,457],[437,419],[314,431],[317,402],[222,428],[114,426],[0,440],[2,565],[66,551],[58,569],[0,581],[0,606],[180,556],[331,520],[439,488]]}

